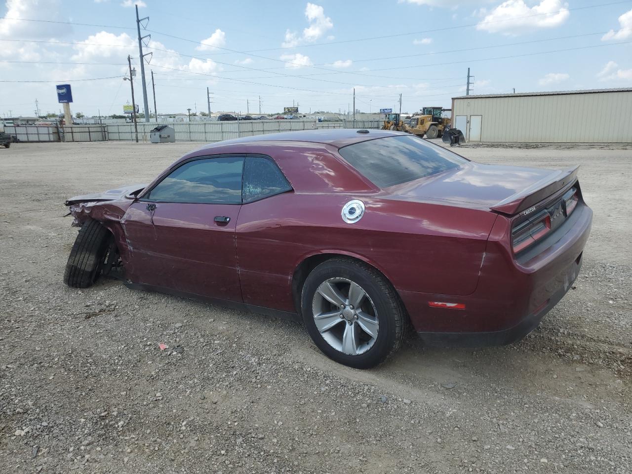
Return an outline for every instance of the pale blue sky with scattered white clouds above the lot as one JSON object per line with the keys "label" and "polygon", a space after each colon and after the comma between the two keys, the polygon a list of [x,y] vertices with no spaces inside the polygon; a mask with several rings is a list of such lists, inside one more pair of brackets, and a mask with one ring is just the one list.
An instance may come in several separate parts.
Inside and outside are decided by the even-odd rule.
{"label": "pale blue sky with scattered white clouds above the lot", "polygon": [[[58,112],[58,80],[72,85],[73,112],[121,113],[128,54],[139,68],[133,3],[7,0],[0,115],[32,115],[35,99]],[[293,101],[346,111],[354,87],[366,112],[398,107],[400,93],[403,111],[449,107],[468,67],[473,94],[632,86],[632,0],[137,3],[150,17],[152,111],[150,70],[159,112],[206,111],[207,87],[212,111],[245,113],[248,100],[258,113],[259,96],[264,113]],[[135,88],[142,109],[140,73]]]}

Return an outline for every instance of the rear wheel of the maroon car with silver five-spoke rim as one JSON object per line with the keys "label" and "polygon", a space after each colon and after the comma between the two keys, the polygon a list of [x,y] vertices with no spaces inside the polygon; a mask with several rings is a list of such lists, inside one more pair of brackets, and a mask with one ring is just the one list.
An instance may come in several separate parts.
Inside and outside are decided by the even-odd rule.
{"label": "rear wheel of the maroon car with silver five-spoke rim", "polygon": [[404,339],[406,313],[395,289],[373,267],[352,258],[332,258],[312,270],[301,312],[318,348],[349,367],[375,367]]}

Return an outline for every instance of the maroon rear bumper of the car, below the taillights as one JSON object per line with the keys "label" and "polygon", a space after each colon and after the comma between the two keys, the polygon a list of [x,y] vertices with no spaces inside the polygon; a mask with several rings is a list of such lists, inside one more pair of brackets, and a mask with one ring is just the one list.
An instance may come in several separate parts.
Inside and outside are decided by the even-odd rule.
{"label": "maroon rear bumper of the car, below the taillights", "polygon": [[[556,241],[537,255],[513,257],[507,228],[498,219],[490,233],[477,289],[468,296],[400,291],[422,341],[432,346],[501,346],[525,337],[566,295],[582,264],[592,210],[578,205]],[[428,301],[461,303],[465,309],[428,307]]]}

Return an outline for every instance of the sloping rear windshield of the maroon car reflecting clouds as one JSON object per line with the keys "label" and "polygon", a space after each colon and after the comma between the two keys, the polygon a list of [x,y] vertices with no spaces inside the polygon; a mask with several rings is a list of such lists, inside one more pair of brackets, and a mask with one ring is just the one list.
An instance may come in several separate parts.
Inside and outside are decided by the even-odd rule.
{"label": "sloping rear windshield of the maroon car reflecting clouds", "polygon": [[339,153],[379,188],[441,173],[467,162],[413,135],[355,143],[341,148]]}

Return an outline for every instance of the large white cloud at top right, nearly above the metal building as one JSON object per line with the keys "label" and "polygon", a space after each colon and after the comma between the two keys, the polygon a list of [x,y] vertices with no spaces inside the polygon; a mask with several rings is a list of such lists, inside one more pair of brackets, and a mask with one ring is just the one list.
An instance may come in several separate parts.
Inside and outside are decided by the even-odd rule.
{"label": "large white cloud at top right, nearly above the metal building", "polygon": [[524,0],[507,0],[485,15],[477,30],[512,35],[536,28],[558,27],[569,15],[568,3],[561,0],[542,0],[532,7]]}

